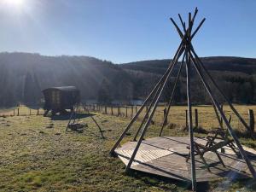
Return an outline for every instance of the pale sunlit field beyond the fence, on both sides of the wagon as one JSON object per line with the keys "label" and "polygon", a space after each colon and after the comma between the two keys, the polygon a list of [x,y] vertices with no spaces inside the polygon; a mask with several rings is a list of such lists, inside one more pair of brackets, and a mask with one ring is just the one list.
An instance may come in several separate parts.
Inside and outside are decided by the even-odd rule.
{"label": "pale sunlit field beyond the fence, on both sides of the wagon", "polygon": [[[28,108],[26,106],[16,107],[16,108],[7,108],[7,109],[0,109],[0,116],[17,116],[18,115],[18,108],[19,108],[19,115],[20,116],[28,116],[28,115],[43,115],[44,109],[43,108]],[[79,107],[79,113],[84,113],[84,108],[89,109],[90,112],[98,112],[98,113],[105,113],[108,115],[113,116],[121,116],[127,119],[131,119],[131,117],[137,112],[137,110],[140,108],[139,106],[123,106],[123,107],[105,107],[105,106],[80,106]],[[160,106],[156,109],[156,112],[154,114],[153,121],[155,124],[160,125],[163,122],[164,119],[164,108],[163,106]],[[198,111],[198,124],[201,128],[210,130],[213,127],[218,127],[218,119],[216,118],[216,115],[214,113],[214,109],[212,106],[208,105],[199,105],[196,107],[193,107],[193,124],[195,125],[195,108]],[[235,108],[237,111],[241,114],[241,116],[245,119],[247,124],[249,124],[249,115],[248,115],[248,109],[253,109],[253,111],[256,112],[256,105],[235,105]],[[168,116],[168,123],[169,125],[172,124],[172,126],[175,127],[184,127],[186,125],[186,106],[173,106],[170,110],[169,116]],[[107,112],[107,113],[106,113]],[[139,120],[143,119],[143,115],[146,113],[146,108],[143,109],[143,112],[139,116]],[[238,131],[246,131],[243,125],[241,125],[241,122],[239,119],[236,118],[236,115],[231,111],[230,107],[228,105],[224,105],[224,113],[229,118],[231,115],[231,125],[234,129]]]}

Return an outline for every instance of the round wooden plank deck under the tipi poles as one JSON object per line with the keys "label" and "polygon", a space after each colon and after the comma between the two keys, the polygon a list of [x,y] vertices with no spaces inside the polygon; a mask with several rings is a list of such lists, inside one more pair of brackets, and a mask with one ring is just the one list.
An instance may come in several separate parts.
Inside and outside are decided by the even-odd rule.
{"label": "round wooden plank deck under the tipi poles", "polygon": [[[202,144],[206,143],[203,138],[195,137],[195,141]],[[137,142],[125,143],[121,148],[115,150],[125,165],[130,160],[136,144]],[[186,156],[189,153],[187,146],[189,146],[189,137],[154,137],[144,140],[131,169],[190,181],[190,160],[188,163],[186,162]],[[248,151],[247,154],[256,169],[256,151],[252,148],[245,148],[245,150]],[[204,155],[211,172],[207,170],[200,157],[195,156],[197,182],[205,182],[217,177],[251,177],[244,160],[237,157],[230,148],[225,147],[224,153],[220,154],[225,167],[219,162],[216,154],[207,152]]]}

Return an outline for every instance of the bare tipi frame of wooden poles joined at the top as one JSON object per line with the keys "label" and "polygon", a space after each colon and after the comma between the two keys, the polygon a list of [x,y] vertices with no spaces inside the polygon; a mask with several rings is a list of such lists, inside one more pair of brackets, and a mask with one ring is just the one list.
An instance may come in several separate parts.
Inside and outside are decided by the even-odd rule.
{"label": "bare tipi frame of wooden poles joined at the top", "polygon": [[[180,29],[177,26],[177,23],[171,18],[172,24],[175,26],[175,28],[177,30],[177,33],[181,38],[181,43],[178,46],[177,52],[174,55],[169,67],[167,68],[166,73],[163,74],[163,76],[160,78],[159,82],[154,86],[154,89],[150,92],[150,94],[148,95],[146,100],[143,102],[141,108],[138,109],[137,113],[131,119],[130,123],[126,126],[125,131],[123,131],[123,133],[119,137],[118,141],[113,145],[113,148],[110,151],[111,155],[115,154],[115,149],[118,148],[119,144],[121,143],[121,141],[125,137],[126,132],[130,130],[131,125],[133,125],[133,123],[137,120],[139,114],[143,111],[143,108],[148,106],[148,110],[145,113],[145,115],[143,117],[143,120],[142,120],[142,123],[140,124],[139,128],[137,129],[137,133],[134,137],[134,141],[137,141],[137,145],[136,145],[133,153],[131,154],[131,159],[129,160],[129,162],[126,166],[125,172],[128,172],[131,168],[132,162],[135,159],[137,151],[138,151],[138,149],[139,149],[139,147],[140,147],[140,145],[143,141],[143,137],[145,136],[145,133],[148,130],[148,126],[150,125],[150,122],[151,122],[151,120],[154,116],[155,109],[157,108],[158,103],[160,101],[160,96],[162,95],[163,90],[166,87],[167,81],[171,77],[173,68],[176,65],[178,65],[178,60],[182,57],[180,67],[179,67],[179,70],[177,72],[177,77],[175,79],[174,86],[172,87],[172,95],[171,95],[171,98],[170,98],[170,102],[168,103],[166,116],[165,116],[164,121],[161,125],[159,136],[162,135],[162,131],[163,131],[164,126],[165,126],[166,118],[168,116],[168,113],[170,113],[170,108],[171,108],[171,105],[172,105],[172,99],[173,99],[174,92],[175,92],[176,87],[177,87],[177,81],[180,77],[180,73],[181,73],[181,70],[182,70],[182,67],[183,67],[183,63],[185,63],[186,78],[187,78],[187,101],[188,101],[187,103],[188,103],[188,120],[189,120],[189,139],[190,139],[189,144],[190,144],[190,160],[191,160],[191,183],[192,183],[192,189],[193,190],[196,190],[196,176],[195,176],[195,144],[194,144],[194,136],[193,136],[192,110],[191,110],[191,97],[190,97],[190,92],[191,92],[191,85],[190,85],[191,67],[195,68],[196,73],[198,74],[199,78],[201,79],[202,84],[206,88],[207,93],[208,93],[208,95],[210,96],[210,98],[212,100],[212,105],[213,105],[214,111],[217,115],[218,122],[220,123],[220,118],[223,119],[224,125],[226,125],[226,127],[227,127],[227,129],[230,133],[230,136],[233,137],[234,142],[236,143],[236,146],[239,149],[239,152],[240,152],[243,160],[245,160],[249,171],[251,172],[253,177],[256,177],[256,174],[255,174],[254,168],[251,164],[251,161],[248,159],[246,152],[242,148],[241,143],[239,142],[238,138],[236,137],[236,134],[233,131],[226,115],[224,114],[223,109],[220,107],[220,104],[218,103],[216,97],[213,96],[212,89],[211,89],[208,81],[210,81],[210,83],[213,84],[215,86],[215,88],[218,90],[219,94],[224,97],[225,102],[228,103],[228,105],[230,106],[232,111],[236,114],[237,118],[241,121],[241,124],[244,125],[247,128],[247,131],[249,131],[251,133],[252,137],[253,137],[253,133],[250,130],[250,128],[248,127],[245,120],[242,119],[241,115],[236,111],[236,108],[234,108],[234,106],[232,105],[232,103],[230,102],[228,97],[224,95],[223,91],[219,89],[218,84],[212,79],[211,74],[208,73],[207,68],[204,66],[204,64],[202,63],[199,56],[195,53],[195,49],[192,45],[192,39],[195,37],[195,34],[199,31],[202,24],[206,20],[205,18],[203,20],[201,20],[199,26],[197,26],[195,28],[195,31],[192,32],[192,29],[193,29],[193,26],[194,26],[194,21],[195,21],[195,16],[197,15],[197,13],[198,13],[197,8],[195,9],[195,13],[194,13],[193,16],[191,15],[191,13],[189,13],[189,20],[188,20],[189,25],[187,27],[186,27],[185,22],[183,22],[183,19],[182,19],[181,15],[178,15],[179,20],[180,20],[181,25],[182,25],[182,29]],[[222,127],[222,125],[220,125],[220,126]],[[139,133],[141,133],[141,134],[140,134],[140,137],[137,140],[137,136],[139,135]]]}

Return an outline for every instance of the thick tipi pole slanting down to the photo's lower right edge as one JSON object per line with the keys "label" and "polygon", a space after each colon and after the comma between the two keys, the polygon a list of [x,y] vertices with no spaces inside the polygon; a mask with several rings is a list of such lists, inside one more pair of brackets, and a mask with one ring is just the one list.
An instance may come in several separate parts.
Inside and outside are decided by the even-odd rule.
{"label": "thick tipi pole slanting down to the photo's lower right edge", "polygon": [[195,58],[193,57],[193,55],[192,55],[190,52],[189,52],[189,56],[190,56],[191,60],[193,61],[193,64],[194,64],[195,69],[196,69],[196,72],[198,73],[199,77],[201,78],[202,83],[203,83],[204,86],[206,87],[207,92],[208,92],[209,96],[210,96],[211,99],[212,99],[212,102],[214,103],[215,107],[218,109],[218,113],[220,113],[220,116],[221,116],[222,119],[224,120],[224,124],[225,124],[225,125],[227,126],[227,128],[228,128],[228,131],[230,132],[230,136],[233,137],[234,142],[236,143],[236,146],[237,146],[237,148],[239,149],[240,154],[241,154],[243,160],[245,160],[245,162],[246,162],[246,164],[247,164],[247,167],[248,167],[248,169],[250,170],[250,172],[252,173],[253,177],[256,177],[255,170],[254,170],[254,168],[253,168],[253,166],[252,166],[252,164],[251,164],[251,161],[248,159],[246,152],[245,152],[244,149],[242,148],[241,143],[239,142],[238,138],[236,137],[236,134],[235,134],[235,132],[233,131],[232,127],[230,126],[228,119],[227,119],[226,116],[224,115],[223,110],[219,107],[219,104],[218,104],[217,100],[216,100],[215,97],[212,95],[212,90],[210,89],[209,85],[207,84],[205,78],[202,76],[202,74],[201,74],[201,69],[198,67],[198,65],[197,65],[197,63],[196,63],[196,61],[195,61]]}

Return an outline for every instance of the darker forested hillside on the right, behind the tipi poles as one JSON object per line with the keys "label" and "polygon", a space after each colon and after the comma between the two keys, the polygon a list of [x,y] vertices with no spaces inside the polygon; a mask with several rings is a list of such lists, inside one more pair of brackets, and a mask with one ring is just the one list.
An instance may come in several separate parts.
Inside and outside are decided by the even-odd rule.
{"label": "darker forested hillside on the right, behind the tipi poles", "polygon": [[[171,60],[152,60],[152,61],[136,61],[120,65],[128,72],[154,73],[160,75],[165,73]],[[212,73],[215,79],[224,91],[224,94],[230,98],[230,101],[237,103],[254,103],[255,98],[255,83],[256,83],[256,59],[241,58],[241,57],[202,57],[201,61]],[[177,67],[174,70],[177,72]],[[175,73],[176,74],[176,73]],[[183,68],[182,78],[177,86],[176,102],[186,102],[186,85],[185,85],[185,70]],[[163,96],[163,100],[168,100],[171,95],[173,79],[167,87]],[[209,96],[203,88],[200,79],[195,75],[195,70],[192,70],[192,101],[198,103],[210,102]],[[210,84],[211,85],[211,84]],[[213,91],[217,92],[217,91]],[[216,94],[221,102],[223,98]]]}

